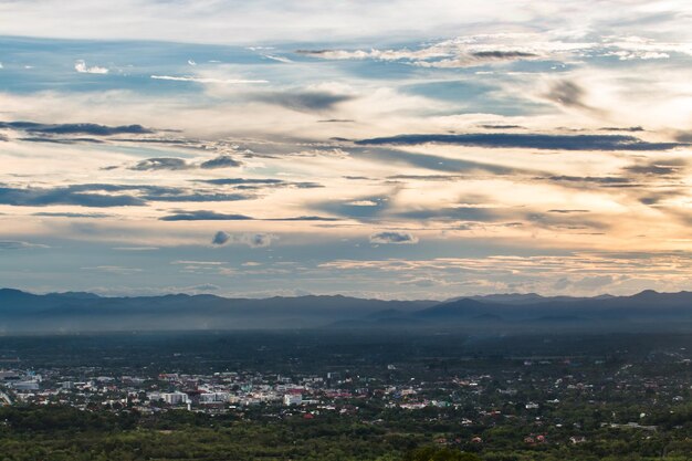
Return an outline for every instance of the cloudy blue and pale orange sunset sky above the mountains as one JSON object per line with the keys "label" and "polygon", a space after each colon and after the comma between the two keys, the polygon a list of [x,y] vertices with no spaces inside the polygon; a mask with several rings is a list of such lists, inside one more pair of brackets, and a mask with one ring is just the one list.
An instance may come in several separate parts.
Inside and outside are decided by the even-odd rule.
{"label": "cloudy blue and pale orange sunset sky above the mountains", "polygon": [[692,3],[0,0],[0,286],[692,290]]}

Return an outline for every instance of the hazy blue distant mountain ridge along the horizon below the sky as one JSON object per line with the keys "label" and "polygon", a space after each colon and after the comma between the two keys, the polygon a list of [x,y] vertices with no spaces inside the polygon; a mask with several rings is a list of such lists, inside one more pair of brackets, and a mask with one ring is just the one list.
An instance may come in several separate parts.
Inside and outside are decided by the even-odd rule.
{"label": "hazy blue distant mountain ridge along the horizon below the sky", "polygon": [[692,292],[594,297],[492,294],[439,301],[343,295],[105,297],[0,289],[0,333],[237,328],[692,329]]}

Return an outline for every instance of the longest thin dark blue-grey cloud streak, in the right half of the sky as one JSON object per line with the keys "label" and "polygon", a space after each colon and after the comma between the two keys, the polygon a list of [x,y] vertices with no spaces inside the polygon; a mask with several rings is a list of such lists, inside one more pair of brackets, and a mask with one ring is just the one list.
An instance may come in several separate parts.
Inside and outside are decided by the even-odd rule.
{"label": "longest thin dark blue-grey cloud streak, in the right half of the sky", "polygon": [[648,143],[623,135],[543,135],[518,133],[473,133],[462,135],[398,135],[357,140],[357,145],[419,145],[428,143],[474,147],[531,148],[551,150],[669,150],[682,143]]}

